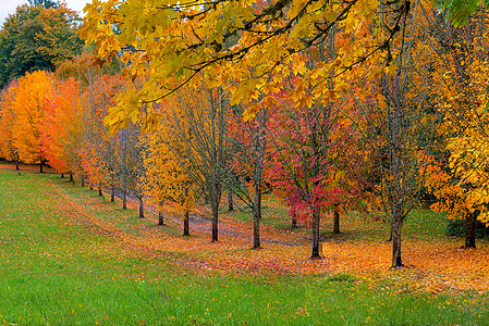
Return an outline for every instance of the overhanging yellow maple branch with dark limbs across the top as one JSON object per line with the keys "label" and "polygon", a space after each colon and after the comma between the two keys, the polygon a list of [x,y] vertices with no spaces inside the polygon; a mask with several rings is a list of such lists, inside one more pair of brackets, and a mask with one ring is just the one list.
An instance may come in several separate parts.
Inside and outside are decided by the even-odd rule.
{"label": "overhanging yellow maple branch with dark limbs across the top", "polygon": [[[259,102],[247,106],[244,115],[250,118],[270,101],[268,89],[280,89],[290,74],[301,75],[298,89],[310,86],[315,99],[328,100],[330,91],[319,87],[325,77],[333,71],[349,73],[375,53],[388,51],[409,12],[409,3],[285,0],[257,1],[253,3],[256,5],[218,1],[219,5],[211,5],[196,1],[182,7],[172,1],[95,1],[87,8],[81,35],[97,45],[101,60],[134,49],[122,55],[129,63],[127,77],[148,76],[139,91],[125,92],[111,110],[108,122],[114,129],[138,116],[137,104],[158,101],[190,82],[198,86],[200,82],[194,77],[200,73],[209,87],[230,87],[231,104],[248,103],[267,89]],[[379,21],[381,33],[355,33],[375,21],[379,4],[383,12],[391,13],[386,24]],[[143,15],[147,18],[139,20]],[[355,34],[347,45],[350,54],[330,64],[305,66],[299,52],[325,42],[339,22],[345,32]],[[179,37],[173,37],[176,30]],[[338,89],[347,88],[345,83],[338,83]],[[148,114],[156,112],[145,112]]]}

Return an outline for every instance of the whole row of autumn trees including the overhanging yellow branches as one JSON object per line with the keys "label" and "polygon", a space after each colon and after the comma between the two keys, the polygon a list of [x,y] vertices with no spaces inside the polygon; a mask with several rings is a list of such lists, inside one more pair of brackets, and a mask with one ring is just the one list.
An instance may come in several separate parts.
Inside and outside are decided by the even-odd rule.
{"label": "whole row of autumn trees including the overhanging yellow branches", "polygon": [[339,231],[341,212],[381,210],[402,266],[403,223],[429,191],[475,246],[489,203],[484,8],[454,27],[425,1],[157,2],[95,2],[81,35],[97,59],[11,82],[0,154],[120,191],[124,205],[131,192],[140,214],[144,198],[178,211],[184,234],[208,203],[212,241],[229,190],[259,248],[261,196],[274,191],[311,226],[311,258],[325,213]]}

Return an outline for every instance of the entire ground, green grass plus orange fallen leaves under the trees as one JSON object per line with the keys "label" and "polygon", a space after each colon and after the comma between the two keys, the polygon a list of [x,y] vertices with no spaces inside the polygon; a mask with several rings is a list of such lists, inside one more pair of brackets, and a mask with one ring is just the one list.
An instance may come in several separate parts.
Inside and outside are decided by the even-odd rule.
{"label": "entire ground, green grass plus orange fallen leaves under the trees", "polygon": [[[407,266],[391,271],[381,222],[344,216],[343,233],[332,236],[325,218],[323,259],[310,261],[308,229],[282,226],[285,211],[272,200],[264,248],[250,250],[243,213],[222,212],[220,241],[211,243],[206,218],[194,217],[192,236],[182,237],[178,217],[157,226],[154,214],[139,218],[59,175],[2,167],[0,325],[389,325],[399,315],[414,325],[484,325],[489,317],[488,243],[460,249],[462,239],[443,236],[444,218],[428,211],[407,221]],[[250,317],[257,312],[264,319]]]}

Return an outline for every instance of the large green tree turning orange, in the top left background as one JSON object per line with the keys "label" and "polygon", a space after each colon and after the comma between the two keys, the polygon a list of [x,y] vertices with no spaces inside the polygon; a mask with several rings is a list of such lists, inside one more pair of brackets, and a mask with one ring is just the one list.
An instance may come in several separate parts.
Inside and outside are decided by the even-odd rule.
{"label": "large green tree turning orange, in the top left background", "polygon": [[0,30],[0,87],[26,72],[54,71],[82,48],[76,13],[64,3],[41,2],[46,7],[17,7]]}

